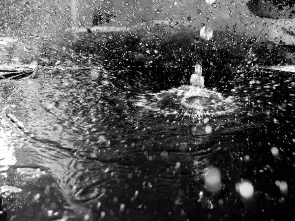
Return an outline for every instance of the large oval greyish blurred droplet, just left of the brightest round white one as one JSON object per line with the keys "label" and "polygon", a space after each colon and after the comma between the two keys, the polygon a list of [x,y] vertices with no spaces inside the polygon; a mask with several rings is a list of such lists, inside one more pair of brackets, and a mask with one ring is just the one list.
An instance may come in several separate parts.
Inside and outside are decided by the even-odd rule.
{"label": "large oval greyish blurred droplet, just left of the brightest round white one", "polygon": [[214,166],[209,166],[204,174],[205,188],[211,193],[217,193],[221,189],[221,174],[219,169]]}

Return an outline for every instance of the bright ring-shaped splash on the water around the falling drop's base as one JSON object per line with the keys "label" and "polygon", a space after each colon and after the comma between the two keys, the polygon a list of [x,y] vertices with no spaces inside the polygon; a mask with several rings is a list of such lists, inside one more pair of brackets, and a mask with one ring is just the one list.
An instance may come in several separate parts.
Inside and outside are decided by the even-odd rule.
{"label": "bright ring-shaped splash on the water around the falling drop's base", "polygon": [[183,85],[153,94],[155,102],[140,97],[135,106],[156,111],[164,115],[187,115],[189,117],[220,116],[238,110],[235,98],[224,98],[217,91]]}

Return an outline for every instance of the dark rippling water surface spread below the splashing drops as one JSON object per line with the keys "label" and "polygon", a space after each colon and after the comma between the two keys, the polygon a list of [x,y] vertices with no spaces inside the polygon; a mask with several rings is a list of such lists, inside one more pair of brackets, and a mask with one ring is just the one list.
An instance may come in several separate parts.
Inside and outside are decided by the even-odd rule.
{"label": "dark rippling water surface spread below the splashing drops", "polygon": [[[225,100],[193,97],[202,108],[187,109],[188,60],[176,70],[106,61],[117,63],[0,81],[0,183],[22,190],[1,191],[8,219],[295,218],[292,72],[208,58],[205,76],[219,81],[208,78],[206,91]],[[213,187],[210,171],[221,180]],[[250,198],[237,191],[244,181]]]}

